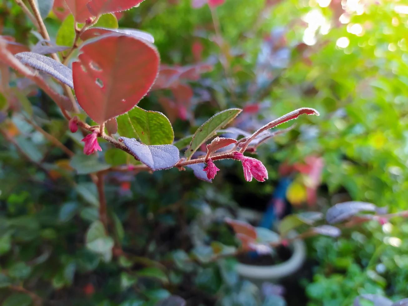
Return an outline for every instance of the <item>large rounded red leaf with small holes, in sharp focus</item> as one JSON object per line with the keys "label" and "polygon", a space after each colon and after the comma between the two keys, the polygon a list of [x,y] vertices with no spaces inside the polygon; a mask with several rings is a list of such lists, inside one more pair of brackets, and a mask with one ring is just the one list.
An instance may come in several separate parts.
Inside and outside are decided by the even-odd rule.
{"label": "large rounded red leaf with small holes, in sharp focus", "polygon": [[85,43],[72,64],[78,103],[95,122],[126,113],[146,95],[159,69],[156,48],[129,35]]}

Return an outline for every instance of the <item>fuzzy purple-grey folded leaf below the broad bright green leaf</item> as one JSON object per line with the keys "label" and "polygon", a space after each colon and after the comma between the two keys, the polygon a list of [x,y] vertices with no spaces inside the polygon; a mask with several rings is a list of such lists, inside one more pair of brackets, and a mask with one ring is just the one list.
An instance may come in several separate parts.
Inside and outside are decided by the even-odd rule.
{"label": "fuzzy purple-grey folded leaf below the broad bright green leaf", "polygon": [[[169,169],[180,159],[180,153],[172,144],[160,144],[146,146],[135,138],[120,137],[120,142],[128,148],[132,154],[143,164],[153,171]],[[204,171],[203,171],[204,172]]]}

